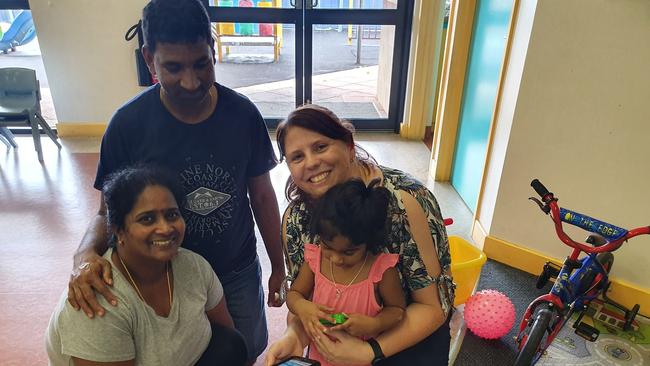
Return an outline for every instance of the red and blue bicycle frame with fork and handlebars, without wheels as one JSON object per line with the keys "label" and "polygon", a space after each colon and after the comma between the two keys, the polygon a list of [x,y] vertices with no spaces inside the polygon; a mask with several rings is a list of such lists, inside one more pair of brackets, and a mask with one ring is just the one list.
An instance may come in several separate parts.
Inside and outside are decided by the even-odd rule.
{"label": "red and blue bicycle frame with fork and handlebars, without wheels", "polygon": [[[543,204],[535,198],[531,199],[537,202],[546,214],[550,213],[558,238],[573,248],[571,255],[567,257],[557,275],[551,291],[531,302],[519,325],[517,340],[521,347],[526,341],[527,334],[525,330],[531,322],[535,309],[544,303],[552,305],[554,318],[550,323],[545,342],[540,344],[539,347],[543,352],[553,342],[573,312],[584,310],[591,300],[598,297],[603,292],[603,289],[607,288],[606,285],[609,282],[608,270],[597,260],[596,255],[598,253],[613,252],[620,248],[625,241],[635,236],[650,234],[650,226],[633,230],[623,229],[587,215],[561,208],[553,193],[549,192],[537,179],[533,180],[531,186],[542,197]],[[576,242],[564,232],[563,222],[601,235],[607,240],[607,243],[601,246],[592,246],[587,243]],[[582,252],[586,253],[587,256],[579,259]],[[584,283],[583,279],[587,273],[595,274],[592,283]],[[590,287],[584,288],[585,286]]]}

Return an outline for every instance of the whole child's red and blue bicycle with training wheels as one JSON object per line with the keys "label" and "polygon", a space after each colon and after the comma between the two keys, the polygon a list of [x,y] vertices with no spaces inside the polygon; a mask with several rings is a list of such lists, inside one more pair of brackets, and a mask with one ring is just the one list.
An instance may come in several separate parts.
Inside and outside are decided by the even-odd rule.
{"label": "whole child's red and blue bicycle with training wheels", "polygon": [[[591,300],[601,294],[605,302],[625,313],[623,328],[628,330],[639,312],[639,305],[636,304],[629,310],[607,298],[607,290],[611,285],[608,274],[614,263],[612,252],[628,239],[650,234],[650,226],[626,230],[562,208],[557,203],[558,199],[539,180],[533,180],[530,185],[542,200],[534,197],[530,199],[545,214],[551,215],[558,237],[573,251],[561,268],[551,262],[544,265],[537,288],[544,287],[551,277],[555,278],[555,282],[551,291],[533,300],[524,313],[516,338],[519,344],[516,366],[535,364],[574,313],[579,313],[573,325],[576,334],[595,341],[600,332],[581,320]],[[585,243],[576,242],[564,232],[563,222],[589,231],[592,235]],[[582,252],[587,255],[579,258]]]}

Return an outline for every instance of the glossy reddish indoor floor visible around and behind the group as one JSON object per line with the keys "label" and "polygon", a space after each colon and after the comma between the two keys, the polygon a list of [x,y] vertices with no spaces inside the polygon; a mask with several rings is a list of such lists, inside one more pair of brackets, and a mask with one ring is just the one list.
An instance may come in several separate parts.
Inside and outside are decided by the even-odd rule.
{"label": "glossy reddish indoor floor visible around and behind the group", "polygon": [[[59,151],[44,138],[43,164],[30,137],[17,140],[18,149],[0,145],[0,365],[42,365],[47,363],[43,332],[66,288],[72,254],[98,207],[92,182],[99,139],[64,139]],[[472,215],[453,188],[427,179],[430,153],[422,142],[386,133],[360,134],[358,141],[380,163],[433,186],[443,214],[455,219],[450,234],[469,236]],[[288,170],[283,164],[271,175],[283,209]],[[268,274],[262,244],[258,249]],[[271,340],[277,339],[286,308],[268,309],[267,316]]]}

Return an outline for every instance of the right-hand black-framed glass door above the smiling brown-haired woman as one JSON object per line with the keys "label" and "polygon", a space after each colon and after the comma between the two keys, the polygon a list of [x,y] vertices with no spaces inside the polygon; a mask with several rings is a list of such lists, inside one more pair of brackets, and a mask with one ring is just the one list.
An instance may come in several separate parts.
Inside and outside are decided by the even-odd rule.
{"label": "right-hand black-framed glass door above the smiling brown-haired woman", "polygon": [[357,129],[397,132],[412,13],[408,0],[307,0],[305,100]]}

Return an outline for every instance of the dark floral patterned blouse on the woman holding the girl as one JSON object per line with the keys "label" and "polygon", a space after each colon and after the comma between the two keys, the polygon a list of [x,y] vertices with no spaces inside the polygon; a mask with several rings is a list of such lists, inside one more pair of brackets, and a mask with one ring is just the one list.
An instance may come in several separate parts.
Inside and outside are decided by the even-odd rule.
{"label": "dark floral patterned blouse on the woman holding the girl", "polygon": [[[392,194],[388,207],[391,227],[388,230],[388,244],[383,250],[386,253],[400,255],[396,267],[400,273],[402,287],[407,294],[407,302],[411,302],[411,291],[419,290],[435,282],[438,286],[442,310],[445,315],[448,315],[454,303],[455,285],[451,278],[449,240],[440,213],[440,206],[433,194],[415,178],[397,169],[383,166],[379,166],[379,169],[383,174],[382,185]],[[442,269],[438,278],[432,278],[427,273],[417,244],[411,237],[409,223],[406,220],[406,209],[401,198],[402,191],[412,195],[417,200],[427,217],[431,237]],[[285,260],[287,261],[290,281],[296,278],[298,270],[304,262],[304,245],[318,242],[317,238],[309,232],[310,219],[311,214],[304,202],[292,202],[284,213]]]}

